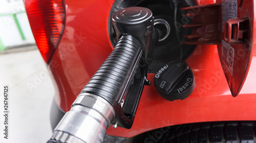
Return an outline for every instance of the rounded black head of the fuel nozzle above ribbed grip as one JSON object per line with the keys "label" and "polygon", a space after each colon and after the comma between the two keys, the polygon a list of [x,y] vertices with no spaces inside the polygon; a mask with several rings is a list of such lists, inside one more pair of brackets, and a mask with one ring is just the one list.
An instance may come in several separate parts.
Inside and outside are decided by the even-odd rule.
{"label": "rounded black head of the fuel nozzle above ribbed grip", "polygon": [[123,34],[130,34],[145,47],[144,57],[148,64],[154,57],[154,45],[158,41],[158,33],[154,28],[154,17],[151,10],[143,7],[130,7],[120,10],[112,16],[112,23],[117,41]]}

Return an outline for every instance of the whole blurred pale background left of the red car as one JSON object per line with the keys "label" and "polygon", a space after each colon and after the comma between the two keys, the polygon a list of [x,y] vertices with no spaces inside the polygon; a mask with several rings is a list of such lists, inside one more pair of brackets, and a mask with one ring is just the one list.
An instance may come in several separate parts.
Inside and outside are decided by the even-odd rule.
{"label": "whole blurred pale background left of the red car", "polygon": [[[47,142],[54,89],[36,47],[22,0],[0,1],[0,142]],[[9,135],[4,138],[4,86]]]}

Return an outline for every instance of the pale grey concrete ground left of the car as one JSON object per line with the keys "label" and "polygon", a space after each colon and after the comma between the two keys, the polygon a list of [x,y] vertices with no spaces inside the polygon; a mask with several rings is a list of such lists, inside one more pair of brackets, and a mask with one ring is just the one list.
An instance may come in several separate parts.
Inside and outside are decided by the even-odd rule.
{"label": "pale grey concrete ground left of the car", "polygon": [[[0,53],[0,142],[47,142],[54,88],[34,47]],[[9,133],[4,138],[4,85],[9,85]]]}

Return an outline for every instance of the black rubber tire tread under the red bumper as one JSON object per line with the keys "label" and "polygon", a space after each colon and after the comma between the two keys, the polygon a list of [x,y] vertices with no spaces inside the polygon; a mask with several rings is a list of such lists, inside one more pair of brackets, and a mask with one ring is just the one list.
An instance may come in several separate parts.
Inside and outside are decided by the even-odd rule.
{"label": "black rubber tire tread under the red bumper", "polygon": [[145,134],[145,143],[256,142],[253,121],[205,122],[183,124],[152,130]]}

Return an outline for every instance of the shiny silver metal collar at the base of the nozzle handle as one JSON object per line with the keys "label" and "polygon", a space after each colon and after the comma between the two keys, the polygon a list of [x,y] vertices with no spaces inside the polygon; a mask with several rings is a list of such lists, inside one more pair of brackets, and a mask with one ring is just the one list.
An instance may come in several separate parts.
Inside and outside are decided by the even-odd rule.
{"label": "shiny silver metal collar at the base of the nozzle handle", "polygon": [[79,142],[77,139],[87,143],[103,142],[114,117],[114,108],[108,101],[82,93],[54,129],[52,139],[68,143]]}

